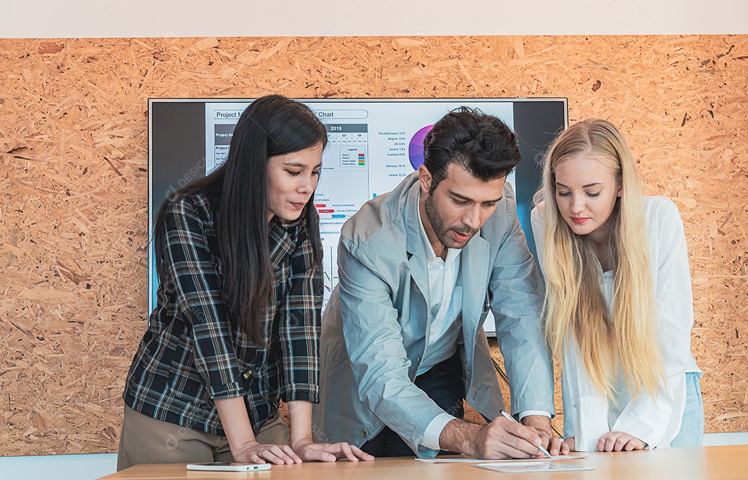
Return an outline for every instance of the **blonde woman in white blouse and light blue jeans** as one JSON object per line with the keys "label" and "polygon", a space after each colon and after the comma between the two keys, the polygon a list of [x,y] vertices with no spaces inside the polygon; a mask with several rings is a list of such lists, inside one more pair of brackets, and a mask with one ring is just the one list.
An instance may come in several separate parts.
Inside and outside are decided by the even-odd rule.
{"label": "blonde woman in white blouse and light blue jeans", "polygon": [[562,369],[562,453],[699,446],[702,372],[675,203],[643,196],[616,126],[583,120],[551,147],[536,205],[545,336]]}

